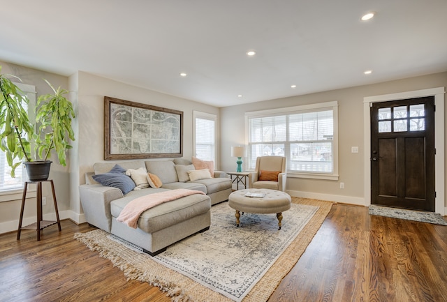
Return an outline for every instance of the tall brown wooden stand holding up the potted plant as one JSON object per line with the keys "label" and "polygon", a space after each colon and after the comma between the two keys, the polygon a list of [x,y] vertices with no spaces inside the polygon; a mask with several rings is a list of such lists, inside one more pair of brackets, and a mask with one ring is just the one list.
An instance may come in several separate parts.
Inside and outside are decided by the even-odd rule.
{"label": "tall brown wooden stand holding up the potted plant", "polygon": [[[22,208],[20,209],[20,219],[19,219],[19,229],[17,229],[17,240],[20,239],[20,232],[22,229],[34,229],[37,231],[37,241],[41,240],[41,230],[45,229],[45,227],[50,227],[50,225],[57,224],[59,226],[59,232],[61,232],[61,221],[59,220],[59,211],[57,210],[57,201],[56,201],[56,193],[54,192],[54,183],[52,180],[47,180],[51,183],[51,190],[53,193],[53,201],[54,201],[54,210],[56,211],[56,219],[57,221],[49,221],[43,220],[42,215],[42,183],[45,181],[25,181],[25,187],[23,189],[22,196]],[[37,222],[32,223],[31,225],[27,225],[26,227],[22,227],[23,221],[23,211],[25,207],[25,199],[27,197],[27,190],[29,183],[36,183],[37,192],[36,192],[36,200],[37,200]]]}

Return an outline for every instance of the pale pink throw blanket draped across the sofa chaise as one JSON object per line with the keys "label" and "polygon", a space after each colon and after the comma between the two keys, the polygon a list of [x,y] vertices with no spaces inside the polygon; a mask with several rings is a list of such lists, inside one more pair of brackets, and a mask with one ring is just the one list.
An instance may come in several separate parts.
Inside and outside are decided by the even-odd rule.
{"label": "pale pink throw blanket draped across the sofa chaise", "polygon": [[205,195],[204,192],[198,190],[175,189],[138,197],[124,206],[124,209],[119,213],[117,220],[136,229],[138,226],[138,218],[140,218],[142,212],[151,209],[154,206],[158,206],[159,204],[163,204],[163,202],[170,202],[179,199],[180,197],[193,194]]}

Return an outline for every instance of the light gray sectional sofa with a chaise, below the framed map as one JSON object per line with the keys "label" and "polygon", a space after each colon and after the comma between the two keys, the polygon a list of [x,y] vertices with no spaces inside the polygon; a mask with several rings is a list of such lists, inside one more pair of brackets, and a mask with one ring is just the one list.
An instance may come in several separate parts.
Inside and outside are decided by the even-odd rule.
{"label": "light gray sectional sofa with a chaise, below the framed map", "polygon": [[[115,165],[124,170],[143,168],[158,176],[162,186],[134,189],[124,194],[119,188],[103,186],[94,180],[94,175],[106,175]],[[195,168],[191,161],[182,158],[95,163],[93,168],[94,172],[86,174],[86,184],[80,186],[80,201],[87,222],[140,246],[149,255],[156,255],[167,246],[208,229],[211,206],[228,200],[231,193],[231,180],[225,172],[214,171],[212,178],[190,181],[188,172]],[[119,213],[131,200],[179,188],[198,190],[206,195],[180,197],[148,209],[138,218],[136,229],[117,221]]]}

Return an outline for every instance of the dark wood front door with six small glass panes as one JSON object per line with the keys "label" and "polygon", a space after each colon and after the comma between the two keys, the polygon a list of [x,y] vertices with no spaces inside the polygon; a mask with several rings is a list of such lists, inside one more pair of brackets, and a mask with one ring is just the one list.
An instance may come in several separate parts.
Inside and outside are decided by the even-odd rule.
{"label": "dark wood front door with six small glass panes", "polygon": [[434,212],[434,97],[373,103],[371,203]]}

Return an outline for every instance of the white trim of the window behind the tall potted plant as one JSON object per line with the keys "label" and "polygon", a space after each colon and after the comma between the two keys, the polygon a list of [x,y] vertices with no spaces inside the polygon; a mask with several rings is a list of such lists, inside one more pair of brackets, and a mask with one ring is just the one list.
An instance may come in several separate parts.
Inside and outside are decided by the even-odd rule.
{"label": "white trim of the window behind the tall potted plant", "polygon": [[[30,84],[23,83],[14,83],[17,87],[20,88],[23,92],[27,94],[34,95],[34,98],[29,98],[28,103],[28,116],[30,121],[36,120],[35,107],[36,107],[36,86]],[[23,167],[24,169],[24,167]],[[29,190],[27,190],[27,199],[36,197],[36,186],[31,186]],[[22,188],[16,188],[12,190],[0,190],[0,202],[10,202],[13,200],[22,199],[23,196],[23,186]]]}

